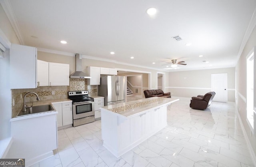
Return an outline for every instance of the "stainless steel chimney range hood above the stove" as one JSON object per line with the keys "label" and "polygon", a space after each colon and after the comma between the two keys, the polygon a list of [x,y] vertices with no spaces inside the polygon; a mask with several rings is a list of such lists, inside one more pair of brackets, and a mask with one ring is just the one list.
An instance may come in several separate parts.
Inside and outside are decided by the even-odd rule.
{"label": "stainless steel chimney range hood above the stove", "polygon": [[81,58],[81,55],[76,54],[75,58],[76,58],[76,62],[75,62],[76,71],[70,75],[70,78],[92,78],[92,77],[89,77],[84,72],[82,72],[82,58]]}

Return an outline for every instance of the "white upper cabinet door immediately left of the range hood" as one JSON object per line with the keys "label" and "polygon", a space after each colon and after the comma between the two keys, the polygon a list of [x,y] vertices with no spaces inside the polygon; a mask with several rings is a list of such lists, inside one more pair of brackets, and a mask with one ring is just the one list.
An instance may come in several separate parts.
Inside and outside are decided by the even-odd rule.
{"label": "white upper cabinet door immediately left of the range hood", "polygon": [[69,64],[49,63],[49,85],[69,85]]}

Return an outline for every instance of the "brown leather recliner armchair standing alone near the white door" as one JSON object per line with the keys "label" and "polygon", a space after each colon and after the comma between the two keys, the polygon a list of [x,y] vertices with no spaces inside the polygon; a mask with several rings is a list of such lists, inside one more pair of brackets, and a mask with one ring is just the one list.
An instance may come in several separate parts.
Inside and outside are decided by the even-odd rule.
{"label": "brown leather recliner armchair standing alone near the white door", "polygon": [[205,95],[198,95],[197,97],[192,97],[192,99],[190,100],[189,106],[192,109],[204,110],[211,105],[214,95],[215,95],[215,92],[210,91]]}

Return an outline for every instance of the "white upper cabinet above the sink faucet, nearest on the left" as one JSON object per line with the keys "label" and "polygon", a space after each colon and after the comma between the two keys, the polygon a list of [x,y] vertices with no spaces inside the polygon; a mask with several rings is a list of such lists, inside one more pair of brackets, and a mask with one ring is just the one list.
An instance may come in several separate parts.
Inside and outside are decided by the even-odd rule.
{"label": "white upper cabinet above the sink faucet, nearest on the left", "polygon": [[34,47],[12,44],[10,49],[11,89],[37,87],[37,50]]}

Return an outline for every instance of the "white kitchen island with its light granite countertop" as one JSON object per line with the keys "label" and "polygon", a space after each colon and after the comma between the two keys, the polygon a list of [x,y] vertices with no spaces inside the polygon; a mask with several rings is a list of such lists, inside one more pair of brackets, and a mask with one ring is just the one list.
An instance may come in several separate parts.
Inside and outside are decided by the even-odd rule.
{"label": "white kitchen island with its light granite countertop", "polygon": [[120,157],[167,125],[176,98],[150,97],[101,107],[103,146]]}

